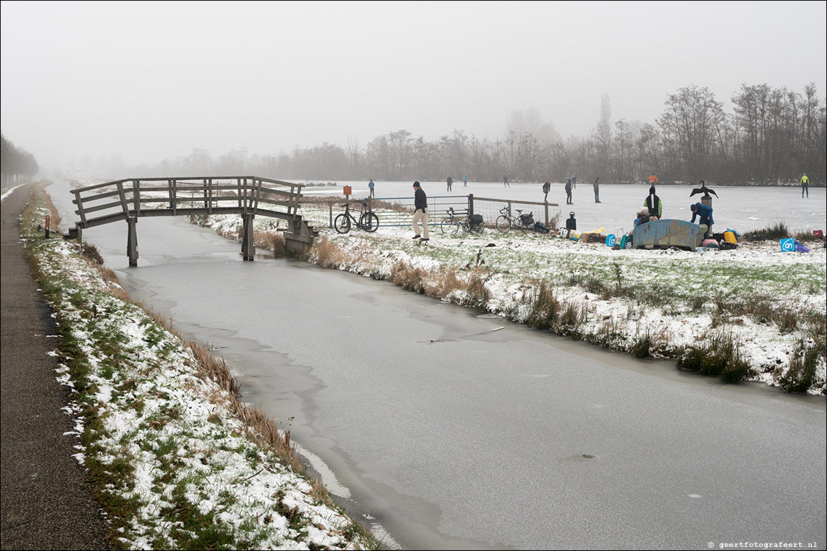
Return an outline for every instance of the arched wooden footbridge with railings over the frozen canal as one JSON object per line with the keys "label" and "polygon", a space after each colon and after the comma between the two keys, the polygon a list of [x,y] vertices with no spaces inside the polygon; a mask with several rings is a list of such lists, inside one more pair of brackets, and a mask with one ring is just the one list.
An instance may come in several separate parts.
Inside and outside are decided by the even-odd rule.
{"label": "arched wooden footbridge with railings over the frozen canal", "polygon": [[256,242],[253,219],[270,216],[287,221],[287,249],[301,252],[313,243],[315,231],[299,215],[302,185],[256,176],[212,176],[194,178],[127,178],[74,189],[74,234],[82,238],[85,228],[127,221],[129,265],[138,264],[136,224],[141,216],[241,216],[241,254],[253,260]]}

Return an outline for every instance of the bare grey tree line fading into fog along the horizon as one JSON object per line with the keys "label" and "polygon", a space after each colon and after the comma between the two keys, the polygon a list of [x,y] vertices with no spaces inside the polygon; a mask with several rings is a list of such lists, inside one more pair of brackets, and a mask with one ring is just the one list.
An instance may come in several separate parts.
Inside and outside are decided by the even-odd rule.
{"label": "bare grey tree line fading into fog along the horizon", "polygon": [[[696,85],[668,94],[654,123],[612,121],[604,94],[600,120],[585,137],[566,140],[536,108],[514,112],[504,137],[490,140],[454,130],[428,141],[407,130],[391,131],[362,147],[323,143],[291,153],[261,155],[231,150],[213,159],[193,150],[179,159],[127,169],[119,156],[93,162],[85,157],[69,172],[112,178],[148,176],[256,175],[291,180],[581,181],[633,183],[656,173],[661,182],[772,184],[807,173],[825,183],[827,116],[815,84],[803,93],[767,84],[743,84],[724,111],[709,88]],[[5,161],[4,161],[5,166]],[[5,174],[5,173],[4,173]],[[70,174],[68,174],[70,175]]]}

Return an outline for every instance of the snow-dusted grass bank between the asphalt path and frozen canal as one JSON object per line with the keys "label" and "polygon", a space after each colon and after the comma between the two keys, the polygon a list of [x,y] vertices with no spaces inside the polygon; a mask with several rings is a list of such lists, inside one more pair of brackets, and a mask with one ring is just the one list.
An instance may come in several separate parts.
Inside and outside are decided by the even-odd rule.
{"label": "snow-dusted grass bank between the asphalt path and frozen canal", "polygon": [[111,273],[81,257],[82,245],[34,229],[50,212],[45,201],[32,195],[23,240],[62,337],[57,380],[73,390],[76,457],[117,545],[377,548],[301,472],[289,433],[238,401],[226,366],[131,303]]}

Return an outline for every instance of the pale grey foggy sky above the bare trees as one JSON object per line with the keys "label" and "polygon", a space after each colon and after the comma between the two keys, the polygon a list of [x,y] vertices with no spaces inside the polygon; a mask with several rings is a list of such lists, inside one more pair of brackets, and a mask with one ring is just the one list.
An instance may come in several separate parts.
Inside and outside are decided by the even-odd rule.
{"label": "pale grey foggy sky above the bare trees", "polygon": [[494,140],[536,107],[585,136],[696,84],[827,92],[827,2],[2,2],[2,132],[41,168]]}

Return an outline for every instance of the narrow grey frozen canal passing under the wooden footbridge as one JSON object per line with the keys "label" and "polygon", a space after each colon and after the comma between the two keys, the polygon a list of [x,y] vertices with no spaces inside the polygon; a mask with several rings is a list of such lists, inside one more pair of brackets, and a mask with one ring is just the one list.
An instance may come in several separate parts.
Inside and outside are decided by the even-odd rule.
{"label": "narrow grey frozen canal passing under the wooden footbridge", "polygon": [[[49,188],[65,222],[68,189]],[[126,226],[84,238],[132,297],[217,347],[387,548],[825,547],[824,397],[679,373],[298,261],[243,262],[180,219],[142,218],[127,268]]]}

